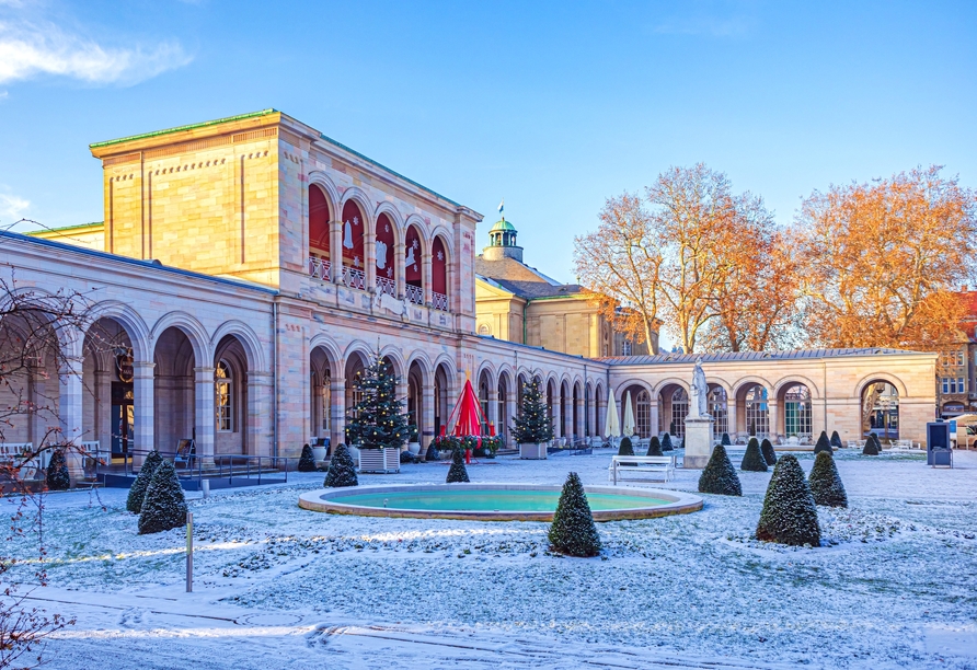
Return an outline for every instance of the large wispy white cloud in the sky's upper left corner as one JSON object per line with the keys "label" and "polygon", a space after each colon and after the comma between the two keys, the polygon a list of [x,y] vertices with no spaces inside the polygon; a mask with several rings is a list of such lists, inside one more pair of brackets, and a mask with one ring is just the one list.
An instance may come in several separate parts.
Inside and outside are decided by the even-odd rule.
{"label": "large wispy white cloud in the sky's upper left corner", "polygon": [[0,23],[0,84],[42,74],[134,84],[191,60],[179,42],[112,48],[51,23]]}

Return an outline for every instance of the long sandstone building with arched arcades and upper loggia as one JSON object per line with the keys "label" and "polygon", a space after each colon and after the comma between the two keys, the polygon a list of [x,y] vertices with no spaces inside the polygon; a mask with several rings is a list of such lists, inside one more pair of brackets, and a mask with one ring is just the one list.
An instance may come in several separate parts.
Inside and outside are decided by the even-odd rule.
{"label": "long sandstone building with arched arcades and upper loggia", "polygon": [[[681,434],[691,357],[607,356],[623,351],[606,324],[578,287],[521,263],[515,229],[493,229],[476,258],[481,215],[311,126],[265,109],[91,150],[101,227],[0,233],[4,279],[12,268],[20,287],[90,302],[91,325],[59,340],[64,369],[37,360],[0,391],[49,398],[69,439],[297,455],[314,437],[343,441],[352,380],[378,350],[425,444],[465,379],[503,434],[532,378],[558,436],[598,435],[609,392],[619,411],[632,396],[642,435],[673,420]],[[731,432],[859,439],[867,390],[889,384],[899,437],[921,441],[935,405],[933,354],[715,355],[703,369]],[[42,424],[3,439],[41,440]]]}

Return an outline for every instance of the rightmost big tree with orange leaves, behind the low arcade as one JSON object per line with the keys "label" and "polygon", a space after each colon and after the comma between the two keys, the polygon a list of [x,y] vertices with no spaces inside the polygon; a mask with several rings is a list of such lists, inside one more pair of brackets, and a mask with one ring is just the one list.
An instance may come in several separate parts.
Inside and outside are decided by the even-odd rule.
{"label": "rightmost big tree with orange leaves, behind the low arcade", "polygon": [[938,349],[975,270],[977,197],[940,166],[832,186],[802,205],[794,234],[808,344]]}

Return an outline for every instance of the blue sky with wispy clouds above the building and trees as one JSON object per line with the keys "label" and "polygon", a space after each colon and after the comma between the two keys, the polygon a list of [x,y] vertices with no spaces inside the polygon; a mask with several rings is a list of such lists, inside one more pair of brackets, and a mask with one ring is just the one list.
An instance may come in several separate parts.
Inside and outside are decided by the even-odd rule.
{"label": "blue sky with wispy clouds above the building and trees", "polygon": [[975,2],[0,0],[0,226],[101,220],[88,143],[275,107],[573,280],[608,196],[698,161],[789,222],[831,183],[977,186]]}

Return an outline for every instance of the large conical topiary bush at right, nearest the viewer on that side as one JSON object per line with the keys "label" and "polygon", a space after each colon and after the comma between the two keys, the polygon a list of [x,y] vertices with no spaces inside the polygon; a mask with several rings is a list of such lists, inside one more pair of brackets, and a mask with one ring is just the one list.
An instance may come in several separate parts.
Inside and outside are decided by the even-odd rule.
{"label": "large conical topiary bush at right, nearest the viewer on that side", "polygon": [[814,496],[797,457],[780,457],[767,486],[757,540],[792,546],[820,545]]}

